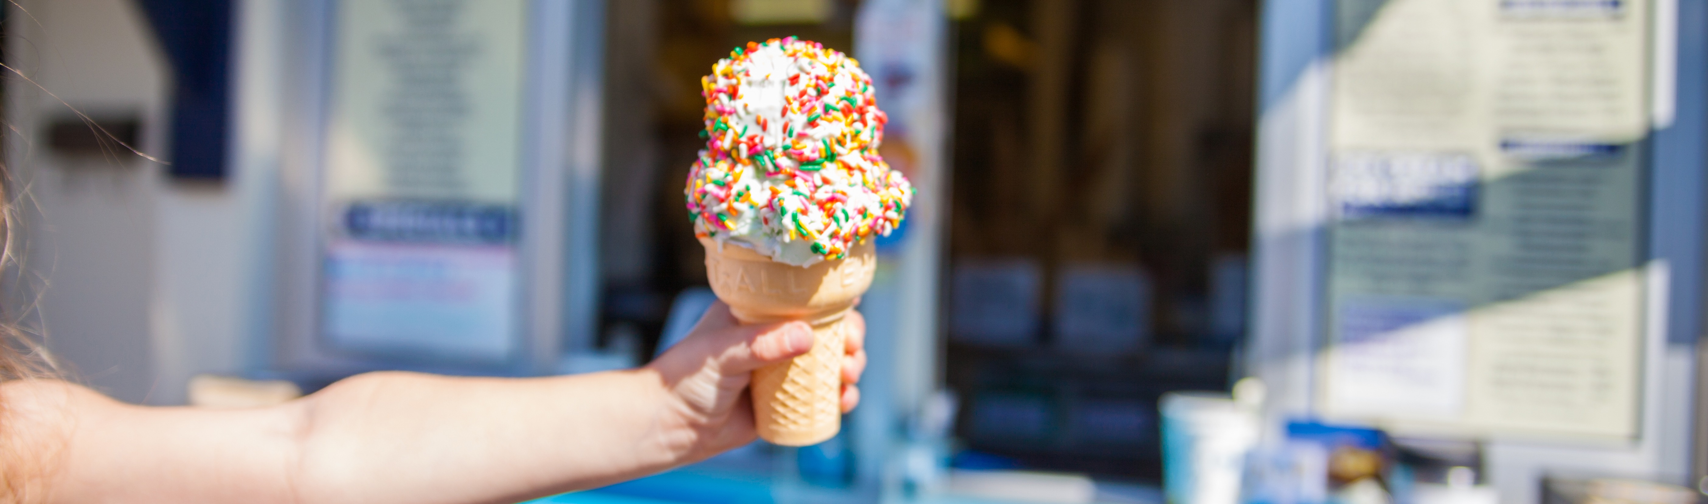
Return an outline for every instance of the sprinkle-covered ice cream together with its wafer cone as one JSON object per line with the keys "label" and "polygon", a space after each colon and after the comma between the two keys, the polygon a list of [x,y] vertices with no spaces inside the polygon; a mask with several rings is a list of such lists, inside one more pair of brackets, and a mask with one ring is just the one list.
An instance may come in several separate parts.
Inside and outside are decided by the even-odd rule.
{"label": "sprinkle-covered ice cream together with its wafer cone", "polygon": [[878,145],[888,116],[854,58],[794,38],[734,48],[702,80],[705,149],[685,188],[717,297],[743,323],[813,325],[806,355],[753,372],[760,437],[840,429],[844,314],[871,285],[873,241],[914,188]]}

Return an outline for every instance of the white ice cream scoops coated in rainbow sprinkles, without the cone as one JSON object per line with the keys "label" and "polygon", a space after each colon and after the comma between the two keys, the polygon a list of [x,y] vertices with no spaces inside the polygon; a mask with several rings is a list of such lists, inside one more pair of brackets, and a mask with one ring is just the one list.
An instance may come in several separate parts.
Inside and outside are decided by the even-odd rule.
{"label": "white ice cream scoops coated in rainbow sprinkles, without the cone", "polygon": [[695,234],[806,267],[902,222],[914,186],[878,157],[888,116],[854,58],[794,38],[748,43],[700,85],[707,142],[685,190]]}

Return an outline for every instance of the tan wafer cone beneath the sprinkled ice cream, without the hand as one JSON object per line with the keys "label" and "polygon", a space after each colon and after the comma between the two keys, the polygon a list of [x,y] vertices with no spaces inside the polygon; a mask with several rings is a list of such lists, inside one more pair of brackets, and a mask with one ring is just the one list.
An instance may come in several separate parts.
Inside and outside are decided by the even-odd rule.
{"label": "tan wafer cone beneath the sprinkled ice cream, without the hand", "polygon": [[753,371],[753,424],[782,446],[808,446],[842,429],[842,355],[849,309],[871,287],[873,244],[847,258],[793,267],[738,244],[700,237],[705,273],[717,299],[741,323],[799,319],[813,326],[813,350]]}

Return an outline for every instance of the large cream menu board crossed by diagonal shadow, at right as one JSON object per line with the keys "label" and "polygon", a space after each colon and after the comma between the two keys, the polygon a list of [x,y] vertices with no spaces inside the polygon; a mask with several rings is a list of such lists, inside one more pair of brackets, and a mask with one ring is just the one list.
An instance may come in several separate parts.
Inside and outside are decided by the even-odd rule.
{"label": "large cream menu board crossed by diagonal shadow, at right", "polygon": [[1648,3],[1336,7],[1319,408],[1636,436]]}

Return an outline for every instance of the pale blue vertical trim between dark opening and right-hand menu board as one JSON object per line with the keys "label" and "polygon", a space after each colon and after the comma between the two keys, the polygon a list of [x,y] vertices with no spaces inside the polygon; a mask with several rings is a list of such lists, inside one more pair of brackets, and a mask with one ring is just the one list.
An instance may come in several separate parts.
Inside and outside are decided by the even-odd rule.
{"label": "pale blue vertical trim between dark opening and right-hand menu board", "polygon": [[[1303,229],[1271,229],[1276,212],[1284,220],[1300,215],[1293,186],[1315,176],[1320,166],[1301,166],[1325,145],[1327,109],[1293,99],[1322,99],[1327,75],[1310,72],[1332,55],[1334,0],[1264,0],[1259,26],[1257,150],[1254,174],[1252,304],[1247,352],[1250,374],[1278,391],[1274,410],[1303,413],[1315,407],[1313,355],[1322,338],[1327,256],[1324,222]],[[1325,104],[1322,104],[1325,106]],[[1310,154],[1317,152],[1317,154]],[[1305,212],[1310,214],[1310,212]],[[1301,359],[1295,359],[1301,357]]]}

